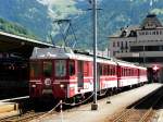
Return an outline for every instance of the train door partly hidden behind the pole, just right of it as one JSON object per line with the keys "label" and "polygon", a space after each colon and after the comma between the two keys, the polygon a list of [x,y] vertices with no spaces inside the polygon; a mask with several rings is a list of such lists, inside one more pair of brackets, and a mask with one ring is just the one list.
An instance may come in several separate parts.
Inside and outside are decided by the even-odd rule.
{"label": "train door partly hidden behind the pole, just right of it", "polygon": [[102,73],[102,66],[97,63],[97,90],[100,90],[100,75]]}

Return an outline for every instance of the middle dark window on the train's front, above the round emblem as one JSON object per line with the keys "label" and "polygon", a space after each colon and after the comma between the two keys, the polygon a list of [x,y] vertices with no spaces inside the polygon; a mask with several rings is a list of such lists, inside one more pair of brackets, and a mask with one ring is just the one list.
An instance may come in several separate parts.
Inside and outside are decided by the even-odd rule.
{"label": "middle dark window on the train's front, above the round emblem", "polygon": [[45,77],[51,77],[52,76],[52,62],[51,61],[45,61],[43,62],[43,76]]}

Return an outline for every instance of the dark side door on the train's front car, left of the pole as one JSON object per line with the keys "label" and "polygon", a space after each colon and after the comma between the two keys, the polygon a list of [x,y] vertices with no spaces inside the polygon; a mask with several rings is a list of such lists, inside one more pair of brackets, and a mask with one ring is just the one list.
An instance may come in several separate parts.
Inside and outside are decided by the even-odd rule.
{"label": "dark side door on the train's front car, left of the pole", "polygon": [[84,87],[84,62],[77,62],[77,85],[78,87]]}

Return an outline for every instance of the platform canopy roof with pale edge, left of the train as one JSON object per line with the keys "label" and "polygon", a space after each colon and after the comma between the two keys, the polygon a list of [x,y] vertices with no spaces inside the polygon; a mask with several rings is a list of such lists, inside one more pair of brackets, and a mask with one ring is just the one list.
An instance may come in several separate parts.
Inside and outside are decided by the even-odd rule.
{"label": "platform canopy roof with pale edge, left of the train", "polygon": [[29,58],[34,47],[43,48],[53,47],[53,45],[0,32],[0,53],[12,53]]}

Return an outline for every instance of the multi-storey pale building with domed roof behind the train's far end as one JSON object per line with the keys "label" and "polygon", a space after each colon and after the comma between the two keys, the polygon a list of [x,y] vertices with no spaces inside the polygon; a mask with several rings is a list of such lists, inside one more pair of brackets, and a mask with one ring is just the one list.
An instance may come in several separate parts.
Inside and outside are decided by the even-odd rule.
{"label": "multi-storey pale building with domed roof behind the train's far end", "polygon": [[148,68],[149,80],[163,82],[163,26],[155,14],[140,25],[121,28],[110,38],[111,57]]}

